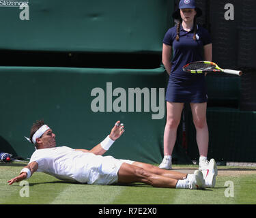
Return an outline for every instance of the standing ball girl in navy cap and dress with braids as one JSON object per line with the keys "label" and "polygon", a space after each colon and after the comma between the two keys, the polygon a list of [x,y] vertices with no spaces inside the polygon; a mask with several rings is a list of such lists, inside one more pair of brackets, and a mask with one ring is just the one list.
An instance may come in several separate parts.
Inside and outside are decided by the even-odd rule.
{"label": "standing ball girl in navy cap and dress with braids", "polygon": [[[162,63],[169,74],[166,92],[167,123],[164,134],[164,159],[159,168],[171,169],[171,155],[184,103],[189,102],[197,131],[199,169],[208,167],[207,91],[205,75],[188,74],[182,67],[193,61],[212,61],[212,42],[206,29],[197,25],[202,11],[195,0],[181,0],[173,13],[177,25],[167,31],[162,46]],[[173,52],[173,58],[172,58]],[[172,58],[172,61],[171,61]]]}

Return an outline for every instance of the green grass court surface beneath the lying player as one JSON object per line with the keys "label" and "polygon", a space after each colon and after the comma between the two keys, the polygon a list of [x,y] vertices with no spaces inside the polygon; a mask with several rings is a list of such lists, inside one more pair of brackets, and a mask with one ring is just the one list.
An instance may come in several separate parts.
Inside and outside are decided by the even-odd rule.
{"label": "green grass court surface beneath the lying player", "polygon": [[[27,180],[29,186],[22,182],[8,185],[26,165],[0,163],[0,204],[256,204],[256,167],[218,166],[216,186],[205,190],[155,188],[142,183],[85,185],[37,172]],[[173,165],[174,170],[188,173],[197,168]]]}

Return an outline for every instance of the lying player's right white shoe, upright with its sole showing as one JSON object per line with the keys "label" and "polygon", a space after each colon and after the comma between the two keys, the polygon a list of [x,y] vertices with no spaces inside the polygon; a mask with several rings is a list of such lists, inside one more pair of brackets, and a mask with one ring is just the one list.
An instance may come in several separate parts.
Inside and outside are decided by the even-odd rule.
{"label": "lying player's right white shoe, upright with its sole showing", "polygon": [[218,175],[217,165],[214,159],[210,159],[208,167],[201,170],[203,178],[205,179],[205,187],[213,188],[216,183],[216,176]]}

